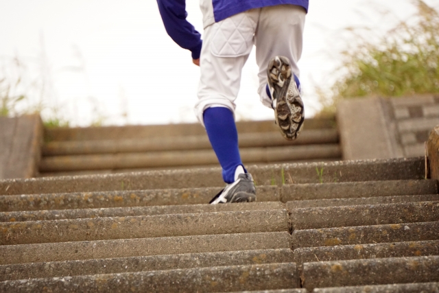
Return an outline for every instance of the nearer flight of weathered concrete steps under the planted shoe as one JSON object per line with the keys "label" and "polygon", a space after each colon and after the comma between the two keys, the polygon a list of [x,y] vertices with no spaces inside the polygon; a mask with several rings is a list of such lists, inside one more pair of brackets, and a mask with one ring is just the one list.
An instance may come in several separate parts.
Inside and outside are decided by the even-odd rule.
{"label": "nearer flight of weathered concrete steps under the planted shoe", "polygon": [[219,168],[1,180],[0,292],[438,292],[425,158],[248,169],[215,206]]}

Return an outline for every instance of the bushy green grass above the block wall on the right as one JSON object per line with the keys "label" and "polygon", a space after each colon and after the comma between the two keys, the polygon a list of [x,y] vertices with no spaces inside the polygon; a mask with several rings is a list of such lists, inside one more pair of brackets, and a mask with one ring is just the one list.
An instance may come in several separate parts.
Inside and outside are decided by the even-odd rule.
{"label": "bushy green grass above the block wall on the right", "polygon": [[342,51],[339,76],[330,89],[316,89],[323,104],[318,116],[333,115],[342,99],[439,93],[439,13],[414,0],[416,14],[401,21],[377,43],[349,28],[359,43]]}

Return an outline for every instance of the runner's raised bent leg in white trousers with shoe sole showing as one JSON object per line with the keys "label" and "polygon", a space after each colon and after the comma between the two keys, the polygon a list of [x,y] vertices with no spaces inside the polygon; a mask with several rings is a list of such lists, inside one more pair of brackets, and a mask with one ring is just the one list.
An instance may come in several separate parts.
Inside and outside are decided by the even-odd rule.
{"label": "runner's raised bent leg in white trousers with shoe sole showing", "polygon": [[305,119],[297,66],[305,14],[296,5],[262,8],[255,34],[259,95],[265,106],[274,108],[276,124],[285,139],[295,139]]}

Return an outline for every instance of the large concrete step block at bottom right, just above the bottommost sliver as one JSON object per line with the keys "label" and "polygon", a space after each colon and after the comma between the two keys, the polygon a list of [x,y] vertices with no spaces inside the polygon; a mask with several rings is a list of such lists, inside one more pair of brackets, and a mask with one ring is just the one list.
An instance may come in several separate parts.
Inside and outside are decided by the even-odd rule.
{"label": "large concrete step block at bottom right, just above the bottommost sliver", "polygon": [[302,285],[314,288],[439,281],[439,256],[304,263]]}

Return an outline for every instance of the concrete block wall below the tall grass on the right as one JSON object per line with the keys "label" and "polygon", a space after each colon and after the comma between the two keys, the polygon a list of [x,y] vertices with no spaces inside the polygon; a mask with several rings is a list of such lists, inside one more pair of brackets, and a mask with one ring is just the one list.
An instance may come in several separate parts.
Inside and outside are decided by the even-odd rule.
{"label": "concrete block wall below the tall grass on the right", "polygon": [[337,108],[344,160],[424,156],[437,125],[439,95],[349,99]]}

